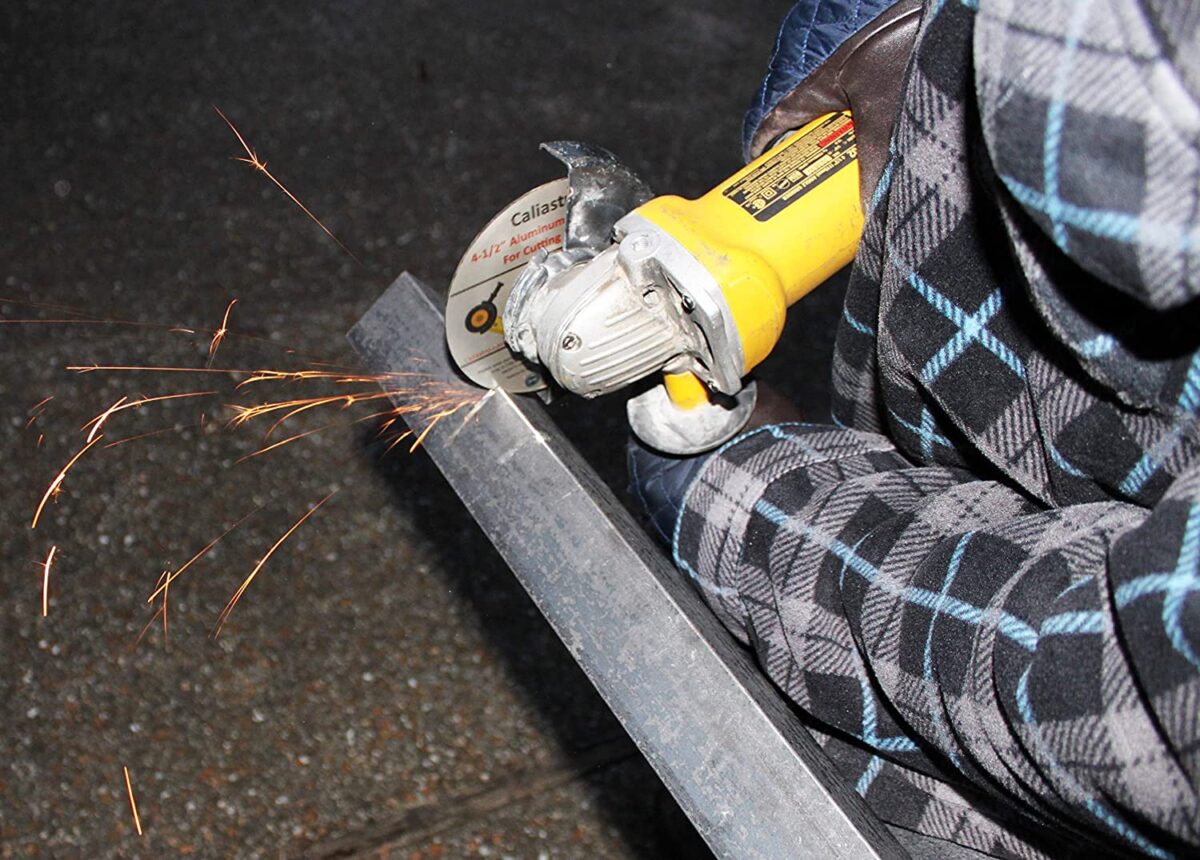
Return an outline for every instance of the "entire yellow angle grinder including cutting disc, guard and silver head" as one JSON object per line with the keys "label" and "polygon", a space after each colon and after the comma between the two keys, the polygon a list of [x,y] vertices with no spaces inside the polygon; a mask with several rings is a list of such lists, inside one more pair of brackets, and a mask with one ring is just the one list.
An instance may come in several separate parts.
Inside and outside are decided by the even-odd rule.
{"label": "entire yellow angle grinder including cutting disc, guard and silver head", "polygon": [[463,254],[451,356],[476,384],[515,392],[553,379],[596,397],[661,372],[629,401],[637,437],[677,455],[727,441],[788,306],[858,247],[850,114],[814,120],[695,200],[654,197],[602,149],[544,149],[568,175],[510,204]]}

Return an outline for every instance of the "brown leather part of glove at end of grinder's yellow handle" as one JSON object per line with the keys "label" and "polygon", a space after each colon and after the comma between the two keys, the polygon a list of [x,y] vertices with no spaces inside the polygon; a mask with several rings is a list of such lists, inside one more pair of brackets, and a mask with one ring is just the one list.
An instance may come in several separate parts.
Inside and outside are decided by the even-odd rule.
{"label": "brown leather part of glove at end of grinder's yellow handle", "polygon": [[920,0],[900,0],[846,40],[763,118],[751,157],[805,122],[850,108],[858,133],[859,193],[868,211],[888,160],[920,12]]}

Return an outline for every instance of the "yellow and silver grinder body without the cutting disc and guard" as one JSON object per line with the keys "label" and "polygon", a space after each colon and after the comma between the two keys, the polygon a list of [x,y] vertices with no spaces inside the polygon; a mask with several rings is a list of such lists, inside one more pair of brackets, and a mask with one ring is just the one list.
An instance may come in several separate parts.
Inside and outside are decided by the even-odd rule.
{"label": "yellow and silver grinder body without the cutting disc and guard", "polygon": [[642,203],[602,251],[542,254],[509,296],[510,349],[584,397],[662,371],[630,401],[635,433],[668,453],[721,444],[749,419],[743,378],[788,306],[853,259],[857,155],[850,115],[828,114],[697,199]]}

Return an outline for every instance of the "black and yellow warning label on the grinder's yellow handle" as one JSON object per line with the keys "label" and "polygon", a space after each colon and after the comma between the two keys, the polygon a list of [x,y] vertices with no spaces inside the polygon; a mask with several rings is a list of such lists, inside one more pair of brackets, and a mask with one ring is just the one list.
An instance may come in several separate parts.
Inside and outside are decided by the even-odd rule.
{"label": "black and yellow warning label on the grinder's yellow handle", "polygon": [[769,221],[858,157],[854,121],[833,114],[721,191],[758,221]]}

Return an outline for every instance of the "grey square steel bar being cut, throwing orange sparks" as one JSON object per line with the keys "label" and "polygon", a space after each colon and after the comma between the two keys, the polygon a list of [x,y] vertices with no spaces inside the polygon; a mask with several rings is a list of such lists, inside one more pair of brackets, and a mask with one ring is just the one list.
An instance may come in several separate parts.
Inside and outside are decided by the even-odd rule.
{"label": "grey square steel bar being cut, throwing orange sparks", "polygon": [[[373,372],[469,390],[440,305],[402,275],[350,342]],[[422,446],[713,850],[905,856],[542,405],[480,395]]]}

